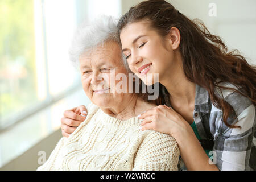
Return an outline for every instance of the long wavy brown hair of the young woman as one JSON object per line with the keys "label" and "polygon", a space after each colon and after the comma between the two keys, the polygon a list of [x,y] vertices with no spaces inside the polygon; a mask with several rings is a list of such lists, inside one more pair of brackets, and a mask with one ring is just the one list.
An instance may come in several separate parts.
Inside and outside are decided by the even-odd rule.
{"label": "long wavy brown hair of the young woman", "polygon": [[[240,127],[227,122],[233,107],[223,98],[218,97],[214,88],[233,90],[249,98],[256,105],[256,66],[249,65],[245,57],[237,51],[229,52],[220,37],[210,34],[203,23],[198,19],[193,21],[188,19],[166,1],[143,1],[131,7],[118,22],[119,34],[127,24],[141,20],[146,20],[148,25],[155,28],[162,36],[166,36],[171,27],[179,29],[181,36],[179,49],[183,56],[185,76],[189,81],[207,89],[214,106],[223,111],[226,126]],[[240,89],[220,86],[216,78],[239,86]],[[164,104],[162,92],[159,92],[157,103]]]}

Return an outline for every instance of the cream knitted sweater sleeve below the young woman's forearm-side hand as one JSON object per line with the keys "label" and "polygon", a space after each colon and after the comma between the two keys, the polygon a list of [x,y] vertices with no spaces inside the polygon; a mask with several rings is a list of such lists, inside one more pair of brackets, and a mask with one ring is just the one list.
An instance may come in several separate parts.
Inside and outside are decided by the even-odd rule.
{"label": "cream knitted sweater sleeve below the young woman's forearm-side hand", "polygon": [[179,147],[173,137],[152,131],[138,148],[133,170],[177,171],[179,155]]}

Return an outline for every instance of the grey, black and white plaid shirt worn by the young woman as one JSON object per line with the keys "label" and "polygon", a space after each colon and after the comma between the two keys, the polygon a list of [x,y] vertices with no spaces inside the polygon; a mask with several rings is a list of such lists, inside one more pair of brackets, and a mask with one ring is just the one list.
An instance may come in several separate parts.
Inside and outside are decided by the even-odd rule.
{"label": "grey, black and white plaid shirt worn by the young woman", "polygon": [[[239,89],[234,85],[224,82],[219,85]],[[167,90],[164,89],[163,92],[166,94]],[[212,154],[216,155],[213,156],[213,162],[215,157],[215,164],[218,169],[255,170],[256,132],[254,131],[256,107],[248,98],[232,90],[216,88],[216,94],[224,98],[234,109],[233,113],[229,115],[227,122],[230,125],[236,123],[242,129],[227,127],[223,122],[222,110],[217,109],[212,104],[208,91],[196,84],[193,118],[201,139],[209,139],[207,135],[208,127],[214,142]],[[170,105],[167,97],[166,104]],[[237,119],[232,119],[234,117],[237,117]]]}

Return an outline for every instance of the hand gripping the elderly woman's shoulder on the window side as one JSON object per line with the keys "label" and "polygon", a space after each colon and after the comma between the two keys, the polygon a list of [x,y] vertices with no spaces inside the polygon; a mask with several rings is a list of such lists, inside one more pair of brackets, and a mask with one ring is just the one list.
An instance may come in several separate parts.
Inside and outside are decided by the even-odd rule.
{"label": "hand gripping the elderly woman's shoulder on the window side", "polygon": [[61,131],[64,137],[69,137],[76,127],[81,124],[86,118],[87,109],[84,105],[75,107],[70,110],[65,110],[63,118],[61,118]]}

